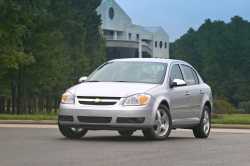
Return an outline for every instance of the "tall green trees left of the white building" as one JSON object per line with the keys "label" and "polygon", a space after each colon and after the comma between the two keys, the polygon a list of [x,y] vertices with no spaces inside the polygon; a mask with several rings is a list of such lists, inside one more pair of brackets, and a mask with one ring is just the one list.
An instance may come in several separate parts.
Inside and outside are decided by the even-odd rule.
{"label": "tall green trees left of the white building", "polygon": [[0,96],[13,113],[50,112],[105,60],[100,0],[1,0]]}

